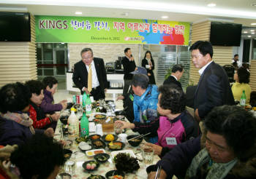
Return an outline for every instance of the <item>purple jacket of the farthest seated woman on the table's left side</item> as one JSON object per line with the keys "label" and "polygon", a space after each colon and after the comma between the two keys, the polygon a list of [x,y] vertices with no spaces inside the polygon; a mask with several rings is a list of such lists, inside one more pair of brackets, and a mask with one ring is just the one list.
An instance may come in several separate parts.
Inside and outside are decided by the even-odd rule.
{"label": "purple jacket of the farthest seated woman on the table's left side", "polygon": [[51,95],[51,92],[48,92],[48,90],[44,90],[44,96],[45,97],[42,100],[40,107],[45,113],[61,111],[61,104],[53,104],[53,95]]}

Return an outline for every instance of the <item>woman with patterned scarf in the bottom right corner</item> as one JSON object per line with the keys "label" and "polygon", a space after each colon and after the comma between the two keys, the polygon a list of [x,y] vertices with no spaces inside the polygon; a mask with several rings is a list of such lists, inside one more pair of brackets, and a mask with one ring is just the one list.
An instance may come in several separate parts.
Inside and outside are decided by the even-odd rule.
{"label": "woman with patterned scarf in the bottom right corner", "polygon": [[255,178],[255,116],[239,106],[218,106],[203,124],[202,138],[181,143],[157,163],[159,178]]}

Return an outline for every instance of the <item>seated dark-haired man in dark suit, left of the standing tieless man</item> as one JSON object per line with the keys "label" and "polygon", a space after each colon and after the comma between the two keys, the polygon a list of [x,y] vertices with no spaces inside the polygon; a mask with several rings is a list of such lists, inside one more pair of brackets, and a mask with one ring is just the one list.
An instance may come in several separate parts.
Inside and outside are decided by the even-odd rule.
{"label": "seated dark-haired man in dark suit, left of the standing tieless man", "polygon": [[184,73],[184,68],[182,65],[180,64],[174,65],[172,68],[172,73],[167,79],[165,79],[164,85],[176,84],[178,87],[181,87],[181,83],[178,80],[181,79],[181,76],[183,75],[183,73]]}

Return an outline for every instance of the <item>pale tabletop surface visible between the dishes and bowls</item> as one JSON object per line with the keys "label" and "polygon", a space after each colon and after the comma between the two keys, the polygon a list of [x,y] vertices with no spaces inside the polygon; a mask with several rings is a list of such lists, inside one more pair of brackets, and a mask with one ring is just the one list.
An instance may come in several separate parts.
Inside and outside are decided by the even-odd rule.
{"label": "pale tabletop surface visible between the dishes and bowls", "polygon": [[[99,114],[99,113],[92,113],[89,115],[89,122],[92,122],[95,114]],[[127,119],[125,119],[125,120],[127,120]],[[128,120],[127,120],[127,122],[128,122]],[[104,149],[105,149],[105,153],[110,155],[110,159],[108,159],[108,161],[105,163],[100,163],[97,170],[94,170],[91,172],[84,170],[83,163],[87,162],[87,161],[94,160],[94,157],[87,156],[85,151],[81,151],[80,148],[78,147],[78,143],[74,140],[74,138],[69,138],[68,135],[66,135],[66,136],[63,135],[63,132],[62,132],[63,125],[64,124],[62,124],[61,121],[59,120],[57,123],[56,130],[55,130],[54,138],[56,140],[69,140],[69,141],[72,140],[72,145],[69,146],[69,148],[68,148],[69,150],[72,151],[72,155],[69,158],[69,161],[75,162],[74,171],[71,174],[72,178],[86,179],[86,178],[89,178],[89,176],[91,174],[92,175],[102,175],[103,177],[105,177],[105,174],[108,171],[116,170],[116,164],[115,164],[115,162],[113,162],[113,157],[111,155],[111,152],[113,152],[113,151],[111,151],[107,146]],[[133,132],[132,130],[124,130],[124,132],[127,135],[139,135],[137,132]],[[89,135],[93,135],[93,134],[95,134],[95,132],[89,133]],[[108,134],[114,134],[114,132],[103,132],[103,135],[108,135]],[[120,140],[120,139],[118,138],[117,140]],[[143,142],[144,141],[145,140],[143,140]],[[91,141],[89,140],[87,143],[91,144]],[[65,148],[65,146],[64,146],[64,148]],[[140,149],[140,146],[137,146],[137,147],[131,146],[127,141],[125,142],[125,146],[124,146],[124,148],[122,148],[122,150],[133,151],[136,158],[138,159],[138,164],[140,165],[140,168],[137,171],[125,173],[124,178],[126,178],[126,179],[147,178],[148,175],[146,172],[146,168],[151,164],[156,164],[160,159],[159,156],[154,155],[153,162],[151,164],[145,164],[143,162],[143,156],[142,156],[142,151]],[[67,171],[65,171],[64,166],[61,167],[59,173],[63,173],[63,172],[67,172]]]}

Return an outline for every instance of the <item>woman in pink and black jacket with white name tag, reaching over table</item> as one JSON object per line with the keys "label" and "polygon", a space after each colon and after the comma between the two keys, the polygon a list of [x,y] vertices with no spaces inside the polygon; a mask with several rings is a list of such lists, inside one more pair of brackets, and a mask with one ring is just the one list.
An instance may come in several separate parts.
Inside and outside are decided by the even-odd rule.
{"label": "woman in pink and black jacket with white name tag, reaching over table", "polygon": [[153,122],[142,124],[117,121],[123,128],[131,128],[136,132],[146,134],[157,131],[158,142],[146,143],[154,148],[154,153],[164,156],[170,148],[178,143],[191,140],[200,135],[200,128],[195,119],[185,110],[186,98],[184,92],[176,84],[159,87],[157,111],[161,115]]}

